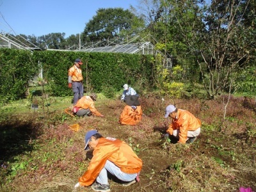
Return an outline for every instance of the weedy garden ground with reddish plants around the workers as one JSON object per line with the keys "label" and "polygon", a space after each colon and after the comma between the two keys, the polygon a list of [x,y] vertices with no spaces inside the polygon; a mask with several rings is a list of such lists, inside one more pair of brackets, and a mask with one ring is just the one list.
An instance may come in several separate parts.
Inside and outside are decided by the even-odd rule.
{"label": "weedy garden ground with reddish plants around the workers", "polygon": [[[191,145],[161,138],[168,125],[164,109],[173,100],[142,96],[140,124],[121,126],[118,116],[125,104],[117,97],[98,95],[95,106],[104,118],[72,118],[63,112],[71,99],[49,97],[50,106],[44,110],[40,105],[31,109],[29,100],[1,108],[1,191],[74,191],[92,155],[83,150],[84,134],[90,129],[124,140],[143,160],[141,181],[124,188],[109,180],[112,191],[238,191],[239,186],[256,191],[254,99],[232,97],[226,120],[221,98],[175,100],[178,108],[202,120],[202,132]],[[72,131],[72,124],[81,129]]]}

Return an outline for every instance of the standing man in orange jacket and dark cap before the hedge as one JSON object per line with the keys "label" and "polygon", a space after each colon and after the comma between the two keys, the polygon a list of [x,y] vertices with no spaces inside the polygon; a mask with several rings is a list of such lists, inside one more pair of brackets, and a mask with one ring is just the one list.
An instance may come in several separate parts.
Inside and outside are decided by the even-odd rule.
{"label": "standing man in orange jacket and dark cap before the hedge", "polygon": [[68,88],[72,88],[74,92],[73,105],[76,105],[77,100],[84,95],[83,76],[81,65],[82,61],[76,59],[74,65],[68,69]]}

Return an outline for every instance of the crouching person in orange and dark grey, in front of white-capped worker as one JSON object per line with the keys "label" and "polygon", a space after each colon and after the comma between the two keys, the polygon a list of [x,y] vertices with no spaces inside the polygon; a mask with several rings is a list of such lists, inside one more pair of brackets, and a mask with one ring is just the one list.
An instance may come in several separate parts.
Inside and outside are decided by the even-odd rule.
{"label": "crouching person in orange and dark grey, in front of white-capped worker", "polygon": [[141,120],[142,110],[140,101],[136,95],[127,95],[125,99],[127,104],[119,117],[121,125],[136,125]]}

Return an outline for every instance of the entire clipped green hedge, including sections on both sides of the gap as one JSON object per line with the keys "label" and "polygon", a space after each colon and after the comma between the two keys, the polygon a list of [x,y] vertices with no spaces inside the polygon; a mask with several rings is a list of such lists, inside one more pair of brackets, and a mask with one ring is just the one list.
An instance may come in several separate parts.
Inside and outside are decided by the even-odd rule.
{"label": "entire clipped green hedge, including sections on both sides of the gap", "polygon": [[[19,99],[28,88],[28,81],[39,73],[42,65],[47,90],[52,96],[72,95],[67,86],[68,68],[81,58],[84,90],[115,92],[129,83],[136,88],[152,85],[152,56],[105,52],[22,51],[0,49],[0,95]],[[111,95],[111,94],[108,94]],[[2,98],[3,100],[3,98]]]}

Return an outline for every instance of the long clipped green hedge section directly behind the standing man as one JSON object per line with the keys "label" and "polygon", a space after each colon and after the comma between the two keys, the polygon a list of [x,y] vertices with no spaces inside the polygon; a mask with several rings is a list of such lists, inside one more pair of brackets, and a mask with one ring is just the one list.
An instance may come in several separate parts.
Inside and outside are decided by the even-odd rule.
{"label": "long clipped green hedge section directly behind the standing man", "polygon": [[83,61],[84,90],[102,92],[109,88],[118,91],[127,82],[134,86],[152,83],[149,56],[74,51],[35,51],[34,56],[42,63],[44,78],[55,96],[72,95],[67,87],[67,74],[76,58]]}

